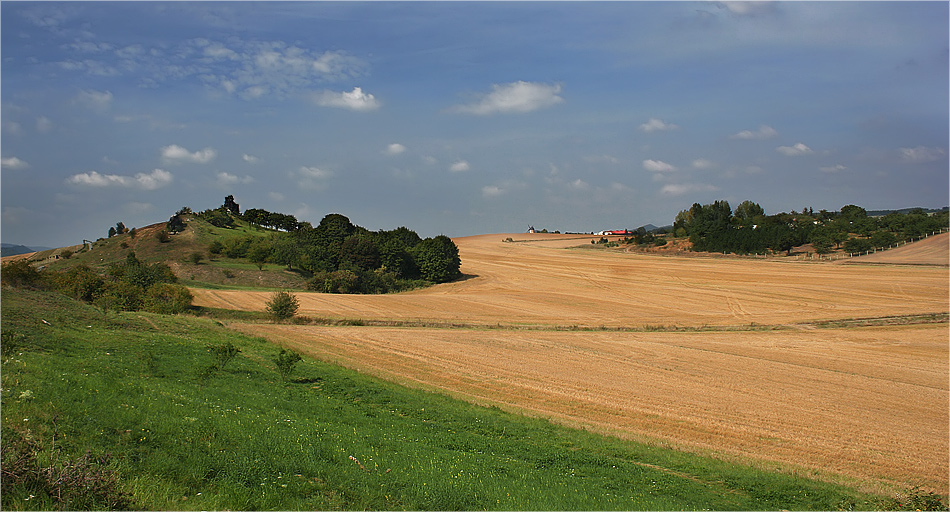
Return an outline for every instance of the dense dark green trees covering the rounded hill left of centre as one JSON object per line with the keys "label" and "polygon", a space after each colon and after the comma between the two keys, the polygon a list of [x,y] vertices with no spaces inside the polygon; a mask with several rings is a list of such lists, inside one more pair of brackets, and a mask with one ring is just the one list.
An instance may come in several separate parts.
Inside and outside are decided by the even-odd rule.
{"label": "dense dark green trees covering the rounded hill left of centre", "polygon": [[[179,212],[169,220],[169,231],[172,224],[184,224],[181,215],[184,214]],[[458,247],[445,235],[423,239],[404,226],[370,231],[338,213],[326,215],[314,227],[293,215],[260,208],[242,214],[233,198],[229,206],[197,215],[218,227],[232,227],[235,219],[241,219],[276,231],[269,236],[214,241],[208,251],[212,255],[247,259],[258,268],[275,263],[288,270],[303,271],[311,276],[308,289],[313,291],[388,293],[461,276]]]}

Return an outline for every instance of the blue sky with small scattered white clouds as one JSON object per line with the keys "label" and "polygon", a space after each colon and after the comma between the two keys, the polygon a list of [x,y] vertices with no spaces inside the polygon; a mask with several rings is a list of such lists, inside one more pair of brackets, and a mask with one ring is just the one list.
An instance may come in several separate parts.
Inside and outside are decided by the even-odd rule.
{"label": "blue sky with small scattered white clouds", "polygon": [[0,236],[950,203],[947,2],[0,3]]}

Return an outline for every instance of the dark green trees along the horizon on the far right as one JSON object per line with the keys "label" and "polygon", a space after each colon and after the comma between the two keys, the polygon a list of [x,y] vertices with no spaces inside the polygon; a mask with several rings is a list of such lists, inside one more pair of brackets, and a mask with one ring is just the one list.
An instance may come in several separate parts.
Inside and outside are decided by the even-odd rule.
{"label": "dark green trees along the horizon on the far right", "polygon": [[923,210],[869,216],[867,210],[846,205],[838,212],[805,208],[801,212],[765,215],[757,203],[743,201],[733,211],[727,201],[693,204],[676,216],[673,232],[688,236],[694,251],[737,254],[791,251],[811,243],[815,252],[835,249],[862,252],[888,247],[948,226],[947,210],[927,215]]}

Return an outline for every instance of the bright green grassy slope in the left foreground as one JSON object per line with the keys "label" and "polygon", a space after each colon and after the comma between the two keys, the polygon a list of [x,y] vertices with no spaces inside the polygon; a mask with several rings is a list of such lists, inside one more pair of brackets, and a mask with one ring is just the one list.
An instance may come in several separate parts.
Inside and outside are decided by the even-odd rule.
{"label": "bright green grassy slope in the left foreground", "polygon": [[[827,510],[876,499],[313,360],[282,382],[277,347],[207,319],[103,314],[10,289],[2,300],[4,428],[29,431],[44,456],[55,437],[60,460],[113,454],[142,508]],[[242,353],[202,378],[207,346],[228,342]],[[29,494],[5,493],[3,508],[49,508]]]}

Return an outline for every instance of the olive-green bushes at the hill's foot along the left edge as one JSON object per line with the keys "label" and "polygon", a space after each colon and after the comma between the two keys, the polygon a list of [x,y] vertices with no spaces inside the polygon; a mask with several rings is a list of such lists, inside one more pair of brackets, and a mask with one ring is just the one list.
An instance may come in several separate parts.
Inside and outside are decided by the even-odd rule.
{"label": "olive-green bushes at the hill's foot along the left edge", "polygon": [[3,266],[3,282],[8,286],[53,289],[74,299],[111,311],[146,310],[153,313],[182,313],[191,306],[192,295],[164,263],[144,263],[130,252],[122,263],[99,274],[88,265],[69,270],[37,272],[26,260]]}

